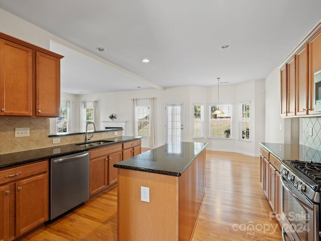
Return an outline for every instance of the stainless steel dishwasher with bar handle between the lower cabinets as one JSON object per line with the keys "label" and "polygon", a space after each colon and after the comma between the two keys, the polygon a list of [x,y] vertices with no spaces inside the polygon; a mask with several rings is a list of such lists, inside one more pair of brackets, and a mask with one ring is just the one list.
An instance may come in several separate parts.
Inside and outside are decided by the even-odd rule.
{"label": "stainless steel dishwasher with bar handle between the lower cabinets", "polygon": [[50,220],[89,199],[89,151],[51,159]]}

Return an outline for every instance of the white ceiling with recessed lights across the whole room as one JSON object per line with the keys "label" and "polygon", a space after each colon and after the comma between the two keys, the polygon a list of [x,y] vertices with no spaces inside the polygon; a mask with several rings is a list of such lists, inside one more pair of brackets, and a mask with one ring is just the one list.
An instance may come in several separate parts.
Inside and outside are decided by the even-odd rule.
{"label": "white ceiling with recessed lights across the whole room", "polygon": [[265,79],[321,20],[320,0],[0,0],[0,8],[118,66],[53,43],[69,93]]}

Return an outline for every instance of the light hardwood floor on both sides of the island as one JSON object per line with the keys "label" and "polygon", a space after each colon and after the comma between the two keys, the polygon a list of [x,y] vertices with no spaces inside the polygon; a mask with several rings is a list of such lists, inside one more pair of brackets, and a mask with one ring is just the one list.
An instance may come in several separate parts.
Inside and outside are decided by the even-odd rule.
{"label": "light hardwood floor on both sides of the island", "polygon": [[[258,157],[207,151],[206,165],[206,197],[192,241],[282,240],[259,183]],[[22,240],[116,241],[117,187]]]}

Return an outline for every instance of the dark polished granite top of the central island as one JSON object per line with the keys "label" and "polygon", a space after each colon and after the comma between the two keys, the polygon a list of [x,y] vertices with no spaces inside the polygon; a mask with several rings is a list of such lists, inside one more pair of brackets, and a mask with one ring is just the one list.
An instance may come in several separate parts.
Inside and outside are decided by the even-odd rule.
{"label": "dark polished granite top of the central island", "polygon": [[181,176],[207,143],[174,142],[114,164],[116,168]]}

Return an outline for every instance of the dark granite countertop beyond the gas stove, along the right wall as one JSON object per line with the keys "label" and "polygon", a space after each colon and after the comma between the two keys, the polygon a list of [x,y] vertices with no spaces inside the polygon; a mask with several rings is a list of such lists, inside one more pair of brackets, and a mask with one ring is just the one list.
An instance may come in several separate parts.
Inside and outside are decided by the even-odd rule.
{"label": "dark granite countertop beyond the gas stove, along the right wall", "polygon": [[321,152],[304,145],[265,142],[260,145],[282,160],[321,162]]}

